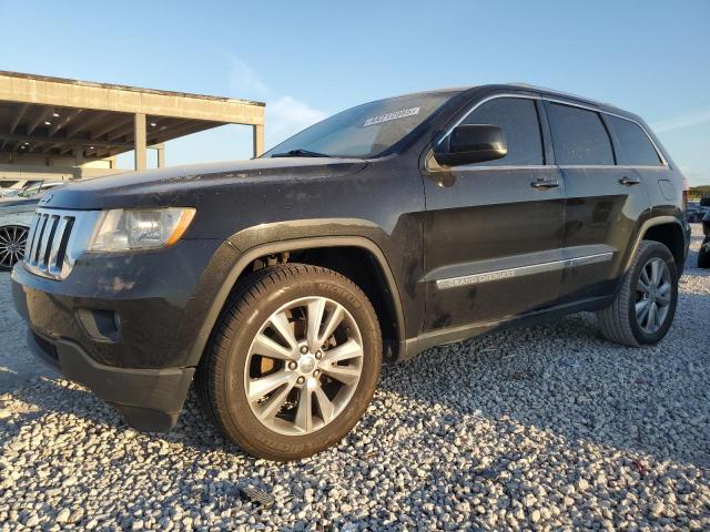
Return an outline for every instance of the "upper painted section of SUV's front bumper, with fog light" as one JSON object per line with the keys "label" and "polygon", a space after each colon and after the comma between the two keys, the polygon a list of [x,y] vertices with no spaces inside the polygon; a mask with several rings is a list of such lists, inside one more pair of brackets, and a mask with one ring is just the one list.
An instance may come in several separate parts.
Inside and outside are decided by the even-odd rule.
{"label": "upper painted section of SUV's front bumper, with fog light", "polygon": [[68,278],[12,272],[18,313],[45,338],[70,339],[99,364],[135,369],[194,366],[195,329],[207,300],[215,241],[185,241],[155,253],[80,259]]}

